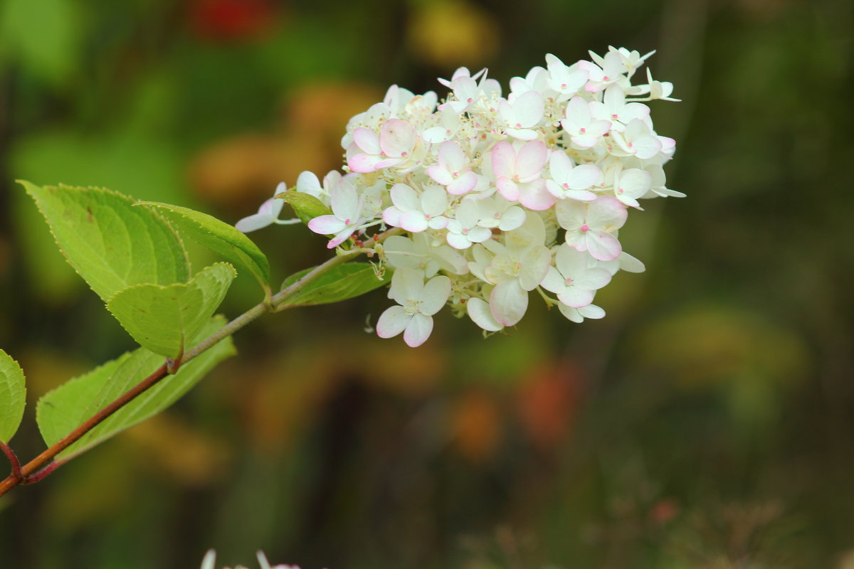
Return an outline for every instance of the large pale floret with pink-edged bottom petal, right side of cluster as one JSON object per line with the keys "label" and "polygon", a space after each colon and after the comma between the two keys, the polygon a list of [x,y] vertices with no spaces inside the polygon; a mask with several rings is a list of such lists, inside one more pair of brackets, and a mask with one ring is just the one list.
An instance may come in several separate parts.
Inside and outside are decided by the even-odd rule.
{"label": "large pale floret with pink-edged bottom petal, right side of cluster", "polygon": [[589,251],[594,258],[609,261],[623,251],[617,237],[611,235],[623,227],[629,214],[617,198],[600,195],[583,203],[561,200],[557,206],[558,223],[566,229],[566,242],[578,251]]}

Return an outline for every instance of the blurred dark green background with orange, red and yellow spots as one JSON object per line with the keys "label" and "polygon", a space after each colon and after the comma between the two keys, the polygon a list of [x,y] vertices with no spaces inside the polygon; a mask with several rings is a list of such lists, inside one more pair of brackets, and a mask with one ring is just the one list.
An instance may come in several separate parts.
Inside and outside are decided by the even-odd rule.
{"label": "blurred dark green background with orange, red and yellow spots", "polygon": [[[256,322],[172,409],[6,496],[0,566],[851,569],[852,30],[834,0],[2,0],[0,345],[32,404],[132,341],[15,178],[233,223],[339,165],[389,84],[612,44],[676,84],[652,113],[688,197],[621,231],[647,271],[602,321],[447,316],[411,350],[366,333],[377,292]],[[281,278],[328,254],[253,237]],[[238,277],[223,310],[256,296]]]}

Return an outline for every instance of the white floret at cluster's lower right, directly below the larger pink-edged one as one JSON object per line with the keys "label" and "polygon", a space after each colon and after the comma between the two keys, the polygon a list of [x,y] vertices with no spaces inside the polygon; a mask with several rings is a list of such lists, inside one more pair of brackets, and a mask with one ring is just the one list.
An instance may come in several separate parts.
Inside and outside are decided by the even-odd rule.
{"label": "white floret at cluster's lower right, directly below the larger pink-edged one", "polygon": [[567,244],[558,247],[554,256],[555,266],[549,267],[541,286],[556,293],[558,300],[573,308],[582,308],[593,302],[595,291],[611,282],[611,273],[605,269],[591,267],[587,253],[576,251]]}

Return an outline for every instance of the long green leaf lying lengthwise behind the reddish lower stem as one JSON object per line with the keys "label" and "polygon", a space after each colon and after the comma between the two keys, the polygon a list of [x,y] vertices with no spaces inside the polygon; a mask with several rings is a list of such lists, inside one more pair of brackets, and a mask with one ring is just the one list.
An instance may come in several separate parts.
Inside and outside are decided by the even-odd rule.
{"label": "long green leaf lying lengthwise behind the reddish lower stem", "polygon": [[[215,316],[202,328],[201,334],[194,341],[207,338],[223,326],[225,318]],[[110,415],[76,443],[63,450],[57,458],[77,456],[116,433],[160,413],[184,395],[190,387],[196,385],[217,363],[235,353],[231,337],[219,341],[208,351],[181,366],[178,373],[167,375],[131,403]],[[139,348],[47,393],[39,399],[36,406],[36,421],[44,442],[48,446],[55,444],[98,410],[148,377],[161,363],[161,356]]]}

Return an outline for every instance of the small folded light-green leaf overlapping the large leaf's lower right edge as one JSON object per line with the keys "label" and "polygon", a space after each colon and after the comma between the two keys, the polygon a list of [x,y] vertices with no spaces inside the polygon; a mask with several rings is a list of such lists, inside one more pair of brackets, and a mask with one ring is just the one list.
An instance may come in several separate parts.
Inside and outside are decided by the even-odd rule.
{"label": "small folded light-green leaf overlapping the large leaf's lower right edge", "polygon": [[212,264],[190,282],[126,288],[109,300],[107,309],[139,345],[176,358],[219,308],[235,276],[231,264]]}

